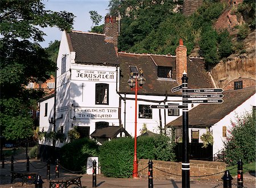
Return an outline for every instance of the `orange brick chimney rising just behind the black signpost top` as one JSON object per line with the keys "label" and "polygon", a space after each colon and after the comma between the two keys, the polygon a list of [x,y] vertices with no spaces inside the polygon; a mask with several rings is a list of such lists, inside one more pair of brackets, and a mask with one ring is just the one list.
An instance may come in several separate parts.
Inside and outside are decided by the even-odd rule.
{"label": "orange brick chimney rising just behind the black signpost top", "polygon": [[176,52],[176,81],[179,85],[181,85],[182,74],[184,70],[187,71],[187,47],[183,45],[183,40],[180,39],[179,46],[175,50]]}

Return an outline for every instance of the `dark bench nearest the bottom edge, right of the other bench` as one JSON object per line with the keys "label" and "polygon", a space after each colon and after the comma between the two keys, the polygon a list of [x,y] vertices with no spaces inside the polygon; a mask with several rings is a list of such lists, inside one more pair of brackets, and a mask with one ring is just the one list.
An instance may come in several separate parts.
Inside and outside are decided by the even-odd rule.
{"label": "dark bench nearest the bottom edge, right of the other bench", "polygon": [[49,182],[49,188],[67,188],[70,185],[77,185],[82,187],[81,184],[82,176],[66,176],[61,178],[51,179]]}

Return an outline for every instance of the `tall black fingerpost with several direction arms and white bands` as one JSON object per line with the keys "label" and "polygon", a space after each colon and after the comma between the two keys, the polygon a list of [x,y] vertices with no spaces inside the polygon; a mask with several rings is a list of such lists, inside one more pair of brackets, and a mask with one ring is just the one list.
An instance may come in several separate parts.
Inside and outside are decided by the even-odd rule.
{"label": "tall black fingerpost with several direction arms and white bands", "polygon": [[187,73],[183,73],[182,85],[173,87],[172,93],[182,90],[182,104],[183,105],[151,105],[151,108],[182,108],[182,187],[190,188],[189,183],[189,154],[188,154],[188,104],[217,104],[222,103],[224,95],[221,94],[221,88],[205,88],[205,89],[188,89]]}

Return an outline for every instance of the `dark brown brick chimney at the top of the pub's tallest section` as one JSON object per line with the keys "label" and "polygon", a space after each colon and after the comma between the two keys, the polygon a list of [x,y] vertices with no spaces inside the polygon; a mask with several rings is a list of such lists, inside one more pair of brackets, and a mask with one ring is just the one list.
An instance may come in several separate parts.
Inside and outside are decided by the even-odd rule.
{"label": "dark brown brick chimney at the top of the pub's tallest section", "polygon": [[113,43],[117,49],[118,44],[118,17],[106,15],[104,26],[105,41]]}

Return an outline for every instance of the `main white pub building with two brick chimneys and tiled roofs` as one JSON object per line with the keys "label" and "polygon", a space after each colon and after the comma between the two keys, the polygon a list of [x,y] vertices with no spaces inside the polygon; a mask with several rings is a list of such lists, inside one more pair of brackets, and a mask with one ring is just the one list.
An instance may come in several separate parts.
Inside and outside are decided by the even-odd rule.
{"label": "main white pub building with two brick chimneys and tiled roofs", "polygon": [[[48,158],[54,147],[69,142],[68,131],[77,127],[81,137],[93,137],[102,144],[115,137],[137,136],[143,127],[159,133],[182,115],[181,109],[150,108],[150,105],[181,105],[181,92],[171,92],[181,85],[183,72],[189,88],[216,87],[205,70],[204,60],[187,57],[187,48],[179,41],[176,56],[117,52],[118,27],[115,17],[106,16],[105,34],[63,32],[57,56],[55,94],[39,102],[39,131],[64,133],[65,140],[39,141],[39,156]],[[131,72],[143,70],[146,82],[135,92],[127,84]],[[195,105],[197,106],[197,105]],[[188,105],[189,110],[193,105]],[[208,125],[197,128],[193,141]],[[189,128],[192,133],[192,128]],[[181,128],[176,129],[180,135]],[[189,133],[189,141],[191,141]]]}

